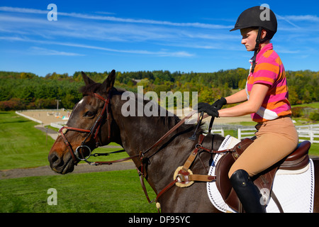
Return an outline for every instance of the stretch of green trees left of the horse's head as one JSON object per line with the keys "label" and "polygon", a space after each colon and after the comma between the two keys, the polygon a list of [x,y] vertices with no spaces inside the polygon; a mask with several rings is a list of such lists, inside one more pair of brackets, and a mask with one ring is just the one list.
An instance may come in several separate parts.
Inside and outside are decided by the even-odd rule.
{"label": "stretch of green trees left of the horse's head", "polygon": [[48,79],[30,73],[0,72],[0,110],[72,109],[82,97],[79,82],[72,79]]}

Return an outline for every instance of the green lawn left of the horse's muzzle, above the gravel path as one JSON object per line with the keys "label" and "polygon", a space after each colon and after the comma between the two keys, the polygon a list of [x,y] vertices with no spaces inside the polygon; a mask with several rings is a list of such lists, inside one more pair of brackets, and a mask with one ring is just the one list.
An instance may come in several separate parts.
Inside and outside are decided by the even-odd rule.
{"label": "green lawn left of the horse's muzzle, above the gravel path", "polygon": [[47,165],[52,138],[34,128],[37,123],[13,112],[0,112],[0,170]]}

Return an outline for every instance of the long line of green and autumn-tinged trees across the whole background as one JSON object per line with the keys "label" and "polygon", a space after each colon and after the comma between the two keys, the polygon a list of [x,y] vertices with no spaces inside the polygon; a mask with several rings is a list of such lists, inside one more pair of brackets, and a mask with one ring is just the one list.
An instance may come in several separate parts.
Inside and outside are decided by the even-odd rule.
{"label": "long line of green and autumn-tinged trees across the whole background", "polygon": [[[96,82],[103,82],[108,72],[86,72]],[[116,72],[116,87],[137,92],[198,92],[198,101],[213,103],[221,96],[228,96],[245,88],[248,70],[220,70],[218,72],[169,72],[139,71]],[[291,104],[319,101],[319,72],[286,72]],[[82,98],[79,88],[84,86],[81,72],[68,74],[47,74],[38,77],[27,72],[0,72],[0,110],[55,109],[57,100],[60,107],[72,109]]]}

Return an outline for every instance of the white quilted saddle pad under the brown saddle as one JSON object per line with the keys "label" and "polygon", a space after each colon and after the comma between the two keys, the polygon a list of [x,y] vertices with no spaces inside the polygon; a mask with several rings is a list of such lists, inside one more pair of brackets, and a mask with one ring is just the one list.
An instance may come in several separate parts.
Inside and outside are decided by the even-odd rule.
{"label": "white quilted saddle pad under the brown saddle", "polygon": [[[240,140],[227,135],[218,150],[233,148]],[[216,175],[216,165],[223,154],[217,154],[211,164],[208,175]],[[307,167],[298,171],[277,171],[272,191],[276,194],[282,209],[285,213],[312,213],[313,212],[313,196],[315,192],[315,176],[313,160],[310,159]],[[235,212],[231,209],[222,196],[220,195],[216,182],[207,183],[208,197],[211,203],[223,212]],[[265,193],[269,194],[269,192]],[[271,198],[264,198],[267,201],[267,213],[279,213],[279,209]]]}

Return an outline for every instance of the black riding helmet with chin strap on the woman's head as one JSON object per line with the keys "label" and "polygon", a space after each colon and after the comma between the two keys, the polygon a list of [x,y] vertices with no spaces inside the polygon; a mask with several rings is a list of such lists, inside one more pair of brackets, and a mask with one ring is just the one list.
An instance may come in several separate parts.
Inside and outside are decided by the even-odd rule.
{"label": "black riding helmet with chin strap on the woman's head", "polygon": [[[240,13],[240,16],[237,18],[235,23],[235,27],[230,31],[235,31],[242,28],[258,28],[256,47],[254,49],[254,57],[252,58],[252,72],[254,72],[259,44],[264,43],[267,40],[271,40],[277,31],[276,15],[271,9],[264,6],[254,6],[250,9],[246,9]],[[262,29],[267,31],[267,35],[265,38],[260,39],[260,36],[262,35]]]}

